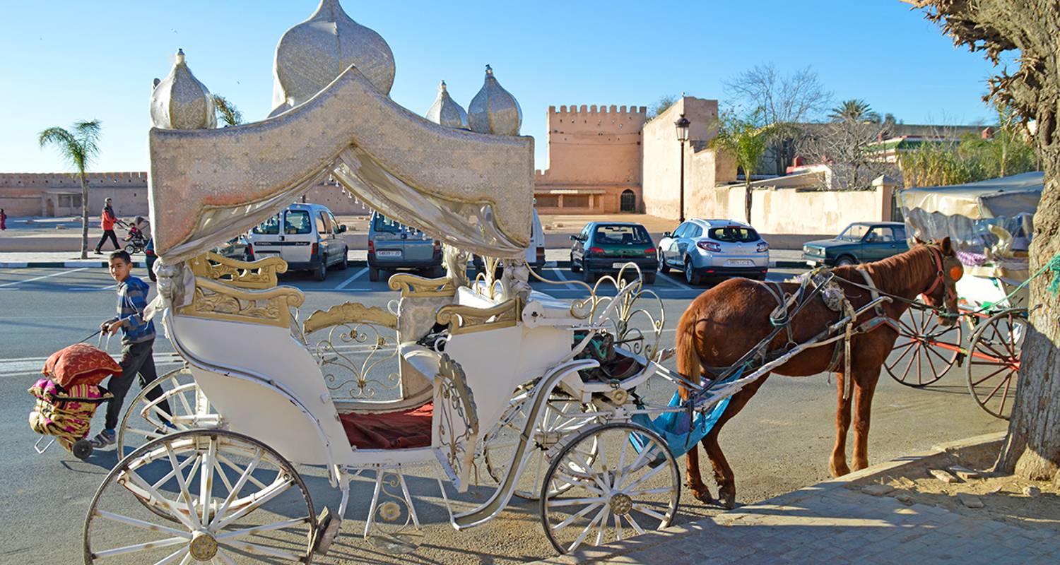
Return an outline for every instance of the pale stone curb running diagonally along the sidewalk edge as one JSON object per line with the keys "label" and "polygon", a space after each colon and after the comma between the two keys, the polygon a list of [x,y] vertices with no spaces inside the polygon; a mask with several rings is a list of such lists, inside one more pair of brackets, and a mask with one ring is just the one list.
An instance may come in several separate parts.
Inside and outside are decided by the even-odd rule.
{"label": "pale stone curb running diagonally along the sidewalk edge", "polygon": [[[816,484],[811,484],[791,491],[789,493],[780,494],[765,500],[759,500],[757,502],[752,502],[749,505],[744,505],[742,507],[737,507],[734,509],[736,512],[740,512],[741,508],[747,506],[758,506],[766,505],[770,500],[774,498],[779,498],[781,496],[788,496],[791,493],[796,493],[802,490],[813,490],[813,491],[825,491],[833,489],[849,489],[851,483],[859,480],[864,480],[868,477],[880,475],[887,472],[896,472],[906,465],[913,466],[919,464],[924,459],[935,457],[938,455],[943,455],[952,449],[970,447],[973,445],[979,445],[985,443],[992,443],[995,441],[1002,441],[1005,439],[1005,431],[995,431],[993,434],[984,434],[982,436],[973,436],[971,438],[965,438],[961,440],[955,440],[951,442],[940,443],[933,445],[930,451],[917,453],[908,456],[898,457],[890,461],[884,461],[883,463],[878,463],[861,471],[855,471],[843,477],[829,479],[826,481],[818,482]],[[682,485],[684,489],[684,485]],[[856,487],[852,487],[856,489]],[[667,542],[672,542],[681,540],[682,537],[693,534],[696,532],[702,532],[707,528],[718,528],[724,527],[725,525],[714,522],[716,518],[725,516],[728,512],[722,512],[716,516],[708,516],[697,520],[688,522],[679,526],[671,526],[662,530],[655,530],[647,532],[641,535],[631,537],[629,540],[623,540],[621,542],[613,542],[611,544],[605,544],[600,547],[585,548],[573,553],[568,553],[565,555],[556,555],[549,559],[544,559],[541,561],[532,562],[530,565],[570,565],[576,563],[593,563],[601,560],[621,558],[622,555],[630,553],[632,551],[639,551],[652,547],[657,547],[659,545],[666,544]],[[837,516],[838,517],[838,516]],[[826,526],[827,524],[817,524],[817,526]],[[763,534],[767,535],[767,534]],[[629,561],[629,563],[635,563],[634,561]]]}

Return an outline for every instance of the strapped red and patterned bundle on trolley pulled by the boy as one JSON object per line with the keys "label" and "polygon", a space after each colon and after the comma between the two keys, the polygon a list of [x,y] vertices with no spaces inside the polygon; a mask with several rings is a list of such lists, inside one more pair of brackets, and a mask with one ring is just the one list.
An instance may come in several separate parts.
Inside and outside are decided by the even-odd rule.
{"label": "strapped red and patterned bundle on trolley pulled by the boy", "polygon": [[[88,343],[74,343],[53,353],[41,371],[45,377],[29,391],[36,399],[30,428],[41,435],[34,451],[42,454],[58,441],[77,459],[88,459],[92,445],[86,438],[92,417],[101,403],[113,398],[100,383],[121,371],[107,352]],[[52,440],[41,446],[49,436]]]}

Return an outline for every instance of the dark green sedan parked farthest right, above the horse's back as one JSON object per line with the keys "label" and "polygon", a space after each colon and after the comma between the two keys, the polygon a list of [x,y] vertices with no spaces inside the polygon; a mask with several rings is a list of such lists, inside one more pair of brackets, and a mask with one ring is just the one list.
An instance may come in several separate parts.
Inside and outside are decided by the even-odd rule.
{"label": "dark green sedan parked farthest right, above the horse's back", "polygon": [[907,251],[905,225],[900,222],[855,222],[834,240],[807,242],[802,259],[810,266],[853,265]]}

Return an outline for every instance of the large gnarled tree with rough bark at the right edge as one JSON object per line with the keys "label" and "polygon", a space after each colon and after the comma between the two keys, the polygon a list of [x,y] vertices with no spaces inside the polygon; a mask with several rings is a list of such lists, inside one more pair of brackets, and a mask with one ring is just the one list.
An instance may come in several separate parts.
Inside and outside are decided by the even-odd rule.
{"label": "large gnarled tree with rough bark at the right edge", "polygon": [[[988,98],[1011,107],[1022,125],[1034,120],[1045,188],[1035,214],[1030,328],[1020,361],[1020,386],[997,470],[1029,479],[1060,480],[1060,3],[1056,0],[904,0],[925,12],[958,46],[983,51],[997,65],[1018,52],[1017,70],[990,80]],[[1052,272],[1048,272],[1052,270]],[[1049,288],[1052,287],[1052,292]]]}

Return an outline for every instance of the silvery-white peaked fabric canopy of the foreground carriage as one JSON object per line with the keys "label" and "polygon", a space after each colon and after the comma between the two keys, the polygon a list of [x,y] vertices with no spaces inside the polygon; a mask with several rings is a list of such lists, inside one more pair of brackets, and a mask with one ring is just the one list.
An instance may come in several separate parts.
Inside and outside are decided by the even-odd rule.
{"label": "silvery-white peaked fabric canopy of the foreground carriage", "polygon": [[533,138],[432,123],[352,66],[276,118],[220,129],[153,128],[149,147],[155,250],[165,261],[245,232],[329,177],[461,249],[517,257],[530,243]]}

